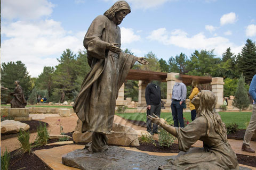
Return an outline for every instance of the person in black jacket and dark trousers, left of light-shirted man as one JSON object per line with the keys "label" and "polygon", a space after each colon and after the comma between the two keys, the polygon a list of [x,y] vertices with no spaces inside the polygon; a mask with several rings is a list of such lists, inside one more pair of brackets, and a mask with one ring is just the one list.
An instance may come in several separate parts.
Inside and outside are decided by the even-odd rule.
{"label": "person in black jacket and dark trousers, left of light-shirted man", "polygon": [[[145,94],[147,102],[147,115],[153,116],[153,113],[160,117],[161,114],[161,89],[159,86],[153,82],[149,83],[146,87]],[[153,124],[153,129],[152,129]],[[150,134],[157,133],[158,126],[154,123],[151,123],[151,120],[147,118],[147,131]]]}

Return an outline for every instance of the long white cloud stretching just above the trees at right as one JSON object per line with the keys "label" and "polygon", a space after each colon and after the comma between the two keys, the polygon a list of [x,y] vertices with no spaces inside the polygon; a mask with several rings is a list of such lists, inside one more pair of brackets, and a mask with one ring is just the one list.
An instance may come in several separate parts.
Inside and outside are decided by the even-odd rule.
{"label": "long white cloud stretching just above the trees at right", "polygon": [[[180,32],[180,33],[178,33]],[[236,54],[240,52],[242,46],[236,46],[229,39],[223,37],[205,37],[204,33],[199,32],[194,36],[188,37],[188,34],[181,30],[168,32],[165,28],[159,28],[151,32],[147,37],[149,40],[158,41],[164,45],[174,45],[186,49],[215,49],[215,53],[221,55],[228,47],[233,49]]]}

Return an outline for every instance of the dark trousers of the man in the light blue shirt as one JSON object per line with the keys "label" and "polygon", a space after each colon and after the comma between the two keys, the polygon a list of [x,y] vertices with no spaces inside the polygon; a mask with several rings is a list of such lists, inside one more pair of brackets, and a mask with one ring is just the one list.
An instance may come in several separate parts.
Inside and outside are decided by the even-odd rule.
{"label": "dark trousers of the man in the light blue shirt", "polygon": [[183,107],[180,105],[180,101],[173,100],[171,104],[171,109],[174,127],[179,127],[180,122],[180,127],[184,128]]}

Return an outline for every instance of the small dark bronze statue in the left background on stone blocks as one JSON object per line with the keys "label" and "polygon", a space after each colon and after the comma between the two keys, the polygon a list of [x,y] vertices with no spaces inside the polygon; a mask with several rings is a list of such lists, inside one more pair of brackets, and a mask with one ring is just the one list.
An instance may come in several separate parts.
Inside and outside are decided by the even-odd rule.
{"label": "small dark bronze statue in the left background on stone blocks", "polygon": [[14,82],[15,89],[14,92],[11,92],[10,95],[14,96],[14,98],[11,100],[11,108],[25,108],[27,105],[27,101],[24,97],[22,87],[20,86],[20,81],[17,80]]}

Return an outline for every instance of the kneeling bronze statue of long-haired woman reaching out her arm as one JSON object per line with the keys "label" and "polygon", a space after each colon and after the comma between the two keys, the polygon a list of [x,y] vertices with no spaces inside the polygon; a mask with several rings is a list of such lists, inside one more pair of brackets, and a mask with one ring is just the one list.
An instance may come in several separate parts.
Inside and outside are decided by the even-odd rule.
{"label": "kneeling bronze statue of long-haired woman reaching out her arm", "polygon": [[[215,113],[216,99],[213,92],[202,90],[193,103],[196,119],[185,128],[174,128],[157,116],[148,116],[155,124],[170,132],[179,141],[180,153],[159,169],[239,169],[235,152],[227,140],[225,124]],[[197,140],[203,148],[190,148]]]}

